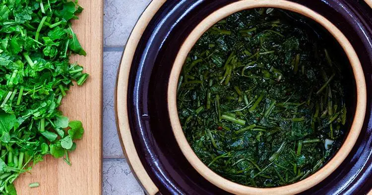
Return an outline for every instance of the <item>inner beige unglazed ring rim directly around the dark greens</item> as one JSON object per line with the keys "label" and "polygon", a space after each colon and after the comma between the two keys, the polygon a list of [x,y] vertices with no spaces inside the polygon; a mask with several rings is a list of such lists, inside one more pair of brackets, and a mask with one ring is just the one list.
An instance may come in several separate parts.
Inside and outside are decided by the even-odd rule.
{"label": "inner beige unglazed ring rim directly around the dark greens", "polygon": [[[209,169],[194,153],[191,146],[188,144],[184,132],[182,130],[180,120],[177,111],[177,84],[181,73],[182,66],[186,60],[186,56],[191,48],[195,45],[196,41],[200,36],[207,31],[213,24],[220,21],[221,19],[231,15],[232,13],[250,9],[255,7],[275,7],[287,9],[305,15],[312,20],[323,26],[333,37],[338,41],[341,47],[344,49],[345,53],[350,60],[350,64],[353,69],[355,76],[356,86],[357,86],[357,107],[354,115],[354,121],[351,126],[350,132],[345,139],[344,144],[338,150],[338,152],[333,156],[333,158],[321,169],[312,174],[310,177],[282,187],[276,188],[253,188],[243,186],[232,181],[229,181],[218,174],[214,173]],[[357,56],[357,53],[353,49],[352,45],[348,39],[342,34],[342,32],[337,29],[329,20],[321,16],[320,14],[314,12],[310,8],[300,5],[295,2],[287,0],[240,0],[226,5],[209,16],[207,16],[202,22],[200,22],[194,30],[186,38],[186,41],[182,45],[176,60],[173,65],[173,69],[170,76],[169,87],[168,87],[168,102],[169,102],[169,113],[171,119],[171,125],[173,127],[173,132],[180,146],[183,154],[186,156],[190,164],[195,168],[195,170],[201,174],[205,179],[216,185],[217,187],[228,191],[233,194],[255,194],[255,195],[281,195],[281,194],[298,194],[305,190],[310,189],[315,186],[323,179],[328,177],[346,158],[350,153],[351,149],[355,145],[357,138],[361,132],[365,112],[367,107],[367,92],[365,77],[362,70],[361,62]]]}

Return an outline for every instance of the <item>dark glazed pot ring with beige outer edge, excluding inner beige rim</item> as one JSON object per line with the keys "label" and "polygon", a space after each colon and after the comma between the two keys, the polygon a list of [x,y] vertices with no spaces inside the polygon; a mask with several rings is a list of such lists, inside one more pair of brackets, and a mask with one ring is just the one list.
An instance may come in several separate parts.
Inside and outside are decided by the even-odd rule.
{"label": "dark glazed pot ring with beige outer edge, excluding inner beige rim", "polygon": [[[236,1],[154,0],[128,40],[118,77],[118,126],[128,162],[149,194],[229,194],[186,159],[172,131],[167,97],[171,70],[188,35],[211,13]],[[372,186],[372,10],[362,0],[289,1],[340,29],[359,57],[367,84],[366,117],[355,146],[335,171],[302,194],[366,194]]]}

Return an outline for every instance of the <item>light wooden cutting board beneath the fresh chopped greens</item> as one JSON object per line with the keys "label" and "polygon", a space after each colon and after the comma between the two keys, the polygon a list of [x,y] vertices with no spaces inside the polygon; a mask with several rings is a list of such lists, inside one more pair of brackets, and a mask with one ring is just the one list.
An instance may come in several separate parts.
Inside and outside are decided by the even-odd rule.
{"label": "light wooden cutting board beneath the fresh chopped greens", "polygon": [[[102,186],[102,28],[103,0],[79,0],[84,11],[73,22],[87,55],[72,56],[90,74],[87,82],[72,86],[61,109],[70,120],[81,120],[85,133],[70,154],[72,166],[48,156],[15,181],[18,195],[100,195]],[[39,182],[40,187],[28,185]]]}

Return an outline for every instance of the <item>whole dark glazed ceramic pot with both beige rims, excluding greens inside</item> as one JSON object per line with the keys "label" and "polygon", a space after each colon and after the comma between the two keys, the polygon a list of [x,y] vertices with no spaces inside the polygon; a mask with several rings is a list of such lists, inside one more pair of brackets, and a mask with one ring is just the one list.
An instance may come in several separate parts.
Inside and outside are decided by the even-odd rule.
{"label": "whole dark glazed ceramic pot with both beige rims, excluding greens inside", "polygon": [[[243,9],[279,7],[322,25],[351,64],[350,131],[319,171],[292,185],[259,189],[228,181],[193,153],[177,115],[176,85],[186,54],[218,20]],[[135,26],[117,85],[124,153],[149,194],[334,194],[371,190],[372,10],[348,0],[154,0]],[[364,117],[366,115],[366,117]],[[371,122],[372,123],[372,122]]]}

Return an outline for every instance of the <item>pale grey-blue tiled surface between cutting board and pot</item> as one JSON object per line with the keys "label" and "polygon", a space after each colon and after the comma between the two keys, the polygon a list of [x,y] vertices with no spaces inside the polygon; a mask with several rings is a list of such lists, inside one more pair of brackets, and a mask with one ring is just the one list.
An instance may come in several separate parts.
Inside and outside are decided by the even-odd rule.
{"label": "pale grey-blue tiled surface between cutting board and pot", "polygon": [[105,0],[103,73],[103,195],[143,195],[117,134],[114,91],[119,61],[138,17],[151,0]]}

